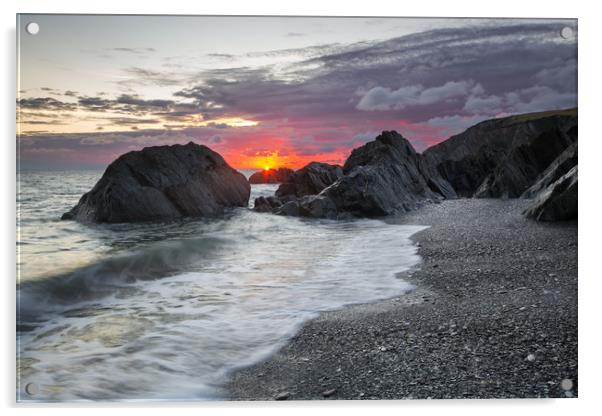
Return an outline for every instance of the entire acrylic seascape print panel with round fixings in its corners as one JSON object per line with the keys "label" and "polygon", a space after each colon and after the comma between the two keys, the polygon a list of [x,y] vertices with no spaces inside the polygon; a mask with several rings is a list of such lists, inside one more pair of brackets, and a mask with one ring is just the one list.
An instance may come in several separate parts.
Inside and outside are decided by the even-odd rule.
{"label": "entire acrylic seascape print panel with round fixings in its corners", "polygon": [[576,20],[17,20],[19,401],[577,396]]}

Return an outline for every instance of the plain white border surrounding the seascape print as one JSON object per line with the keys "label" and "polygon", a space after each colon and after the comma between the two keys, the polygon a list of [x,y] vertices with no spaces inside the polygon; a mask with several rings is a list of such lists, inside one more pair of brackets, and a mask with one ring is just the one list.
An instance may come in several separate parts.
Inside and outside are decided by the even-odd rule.
{"label": "plain white border surrounding the seascape print", "polygon": [[[402,401],[402,402],[296,402],[296,403],[195,403],[195,404],[129,404],[126,409],[132,414],[163,414],[166,407],[177,407],[176,411],[208,414],[326,414],[342,410],[347,414],[364,414],[375,410],[384,414],[431,415],[445,413],[462,415],[504,415],[523,413],[545,413],[546,415],[593,413],[602,383],[600,368],[600,322],[602,316],[599,297],[602,294],[602,276],[595,263],[597,253],[597,230],[600,226],[600,157],[602,129],[600,122],[600,13],[595,2],[575,1],[532,1],[504,0],[485,1],[333,1],[303,0],[286,2],[278,0],[220,0],[215,2],[169,0],[166,2],[124,2],[103,0],[85,2],[81,0],[20,0],[0,2],[3,29],[2,55],[2,162],[3,200],[2,215],[1,274],[3,283],[2,304],[4,307],[3,347],[0,367],[2,404],[13,412],[44,412],[49,415],[105,414],[108,408],[122,407],[118,404],[86,406],[53,405],[47,409],[36,406],[15,405],[15,14],[20,13],[121,13],[121,14],[237,14],[237,15],[346,15],[346,16],[433,16],[433,17],[564,17],[579,19],[579,141],[580,141],[580,229],[579,229],[579,398],[570,400],[454,400],[454,401]],[[65,408],[67,407],[67,408]],[[116,409],[117,410],[117,409]],[[114,411],[114,410],[111,410]]]}

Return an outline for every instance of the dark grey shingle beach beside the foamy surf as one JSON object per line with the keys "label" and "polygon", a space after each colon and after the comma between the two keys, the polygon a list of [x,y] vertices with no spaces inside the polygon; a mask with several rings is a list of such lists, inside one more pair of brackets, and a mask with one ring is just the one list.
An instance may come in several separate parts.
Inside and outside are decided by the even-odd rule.
{"label": "dark grey shingle beach beside the foamy surf", "polygon": [[[525,200],[459,199],[392,218],[416,289],[326,312],[226,386],[233,400],[577,397],[577,224]],[[366,276],[367,279],[370,276]]]}

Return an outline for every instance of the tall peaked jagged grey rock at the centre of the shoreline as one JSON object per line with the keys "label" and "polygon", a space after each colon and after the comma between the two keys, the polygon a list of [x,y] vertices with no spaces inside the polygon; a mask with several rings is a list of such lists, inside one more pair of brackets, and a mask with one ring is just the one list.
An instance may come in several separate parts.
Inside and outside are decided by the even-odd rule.
{"label": "tall peaked jagged grey rock at the centre of the shoreline", "polygon": [[301,200],[300,214],[378,217],[455,196],[449,183],[395,131],[354,149],[343,172],[319,195]]}

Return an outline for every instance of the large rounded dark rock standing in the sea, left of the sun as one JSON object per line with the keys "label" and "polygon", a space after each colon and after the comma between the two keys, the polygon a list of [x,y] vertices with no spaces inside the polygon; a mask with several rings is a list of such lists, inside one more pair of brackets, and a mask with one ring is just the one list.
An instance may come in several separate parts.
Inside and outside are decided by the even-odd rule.
{"label": "large rounded dark rock standing in the sea, left of the sun", "polygon": [[146,147],[112,162],[62,219],[117,223],[211,216],[247,206],[249,195],[244,175],[206,146]]}

